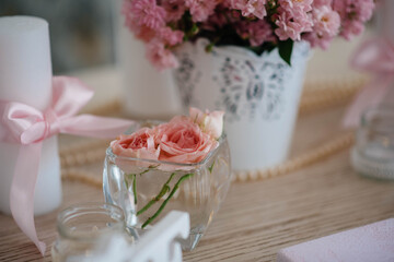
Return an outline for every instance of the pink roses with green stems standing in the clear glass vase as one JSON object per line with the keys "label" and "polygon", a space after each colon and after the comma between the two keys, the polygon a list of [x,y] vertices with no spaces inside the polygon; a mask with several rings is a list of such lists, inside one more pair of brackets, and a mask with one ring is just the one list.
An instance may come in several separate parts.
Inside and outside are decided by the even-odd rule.
{"label": "pink roses with green stems standing in the clear glass vase", "polygon": [[[223,111],[202,112],[197,108],[190,108],[188,117],[177,116],[170,122],[152,128],[141,128],[131,134],[123,134],[111,143],[113,154],[119,157],[116,165],[125,172],[125,184],[132,191],[136,205],[137,202],[140,203],[140,200],[137,200],[138,179],[139,181],[148,179],[144,177],[152,170],[160,171],[160,177],[171,172],[157,195],[146,202],[142,201],[142,207],[136,212],[136,215],[141,218],[146,216],[146,212],[151,211],[154,204],[165,199],[157,212],[146,217],[142,228],[161,214],[182,183],[194,176],[195,170],[192,169],[195,169],[196,165],[187,164],[204,162],[208,154],[220,145],[223,115]],[[215,160],[208,168],[211,174],[213,165]],[[143,170],[138,174],[137,170],[141,167]],[[177,181],[172,182],[176,177],[178,177]],[[153,187],[149,184],[149,188]]]}

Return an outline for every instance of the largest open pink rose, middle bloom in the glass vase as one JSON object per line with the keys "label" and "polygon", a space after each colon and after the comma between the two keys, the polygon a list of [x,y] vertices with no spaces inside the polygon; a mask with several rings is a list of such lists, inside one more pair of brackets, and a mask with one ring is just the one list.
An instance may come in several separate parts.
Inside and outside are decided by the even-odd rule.
{"label": "largest open pink rose, middle bloom in the glass vase", "polygon": [[202,160],[219,143],[187,117],[158,126],[160,160],[193,164]]}

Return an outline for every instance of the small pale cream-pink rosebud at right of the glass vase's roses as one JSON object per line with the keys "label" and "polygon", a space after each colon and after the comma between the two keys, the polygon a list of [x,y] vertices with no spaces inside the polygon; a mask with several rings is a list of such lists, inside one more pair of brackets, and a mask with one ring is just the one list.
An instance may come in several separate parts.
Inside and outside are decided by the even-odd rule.
{"label": "small pale cream-pink rosebud at right of the glass vase's roses", "polygon": [[192,121],[196,122],[202,130],[213,139],[219,139],[223,132],[224,111],[202,112],[198,108],[190,107],[189,116]]}

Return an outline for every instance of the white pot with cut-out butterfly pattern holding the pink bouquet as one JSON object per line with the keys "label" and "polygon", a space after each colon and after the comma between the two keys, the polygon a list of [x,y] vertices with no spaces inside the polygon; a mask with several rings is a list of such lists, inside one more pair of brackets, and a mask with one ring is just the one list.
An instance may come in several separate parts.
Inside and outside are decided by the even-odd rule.
{"label": "white pot with cut-out butterfly pattern holding the pink bouquet", "polygon": [[253,170],[288,156],[310,46],[294,45],[289,67],[275,49],[260,57],[235,46],[206,52],[207,39],[177,50],[174,71],[184,106],[225,110],[234,170]]}

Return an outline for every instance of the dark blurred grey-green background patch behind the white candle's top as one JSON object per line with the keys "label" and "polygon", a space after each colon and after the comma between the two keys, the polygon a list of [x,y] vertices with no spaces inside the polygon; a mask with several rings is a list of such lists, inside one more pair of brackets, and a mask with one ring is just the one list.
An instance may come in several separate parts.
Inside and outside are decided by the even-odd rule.
{"label": "dark blurred grey-green background patch behind the white candle's top", "polygon": [[0,0],[0,16],[48,21],[54,73],[115,62],[114,0]]}

